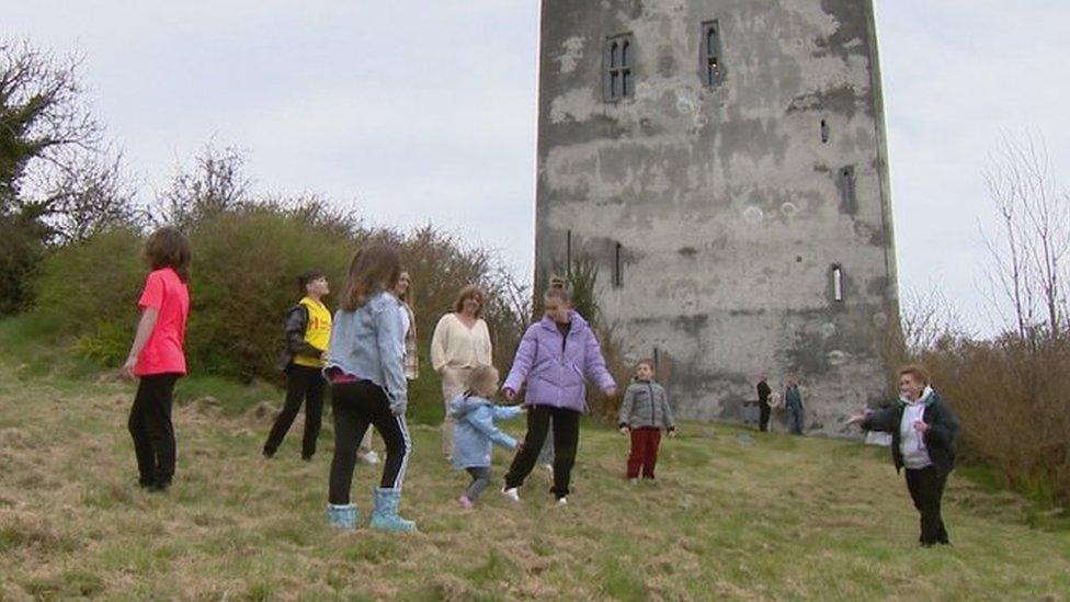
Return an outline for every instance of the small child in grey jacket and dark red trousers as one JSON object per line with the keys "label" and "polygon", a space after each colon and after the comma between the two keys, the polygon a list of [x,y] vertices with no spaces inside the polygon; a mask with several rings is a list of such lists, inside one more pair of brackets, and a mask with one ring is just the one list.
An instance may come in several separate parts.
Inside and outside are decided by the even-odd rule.
{"label": "small child in grey jacket and dark red trousers", "polygon": [[621,432],[631,436],[631,453],[628,455],[627,477],[633,485],[642,478],[653,479],[653,468],[658,463],[658,446],[661,445],[661,429],[669,436],[676,436],[676,423],[669,407],[669,394],[654,382],[652,360],[641,360],[636,365],[635,379],[624,394],[621,404]]}

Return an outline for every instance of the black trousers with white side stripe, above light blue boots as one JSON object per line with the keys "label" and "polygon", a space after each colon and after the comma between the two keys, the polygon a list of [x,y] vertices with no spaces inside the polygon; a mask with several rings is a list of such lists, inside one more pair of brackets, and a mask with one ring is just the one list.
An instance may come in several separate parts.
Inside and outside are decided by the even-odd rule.
{"label": "black trousers with white side stripe, above light blue boots", "polygon": [[331,385],[334,414],[334,458],[328,497],[335,506],[350,503],[350,487],[356,467],[356,451],[368,425],[375,427],[386,444],[386,462],[379,487],[401,489],[412,442],[403,416],[390,412],[386,391],[369,380]]}

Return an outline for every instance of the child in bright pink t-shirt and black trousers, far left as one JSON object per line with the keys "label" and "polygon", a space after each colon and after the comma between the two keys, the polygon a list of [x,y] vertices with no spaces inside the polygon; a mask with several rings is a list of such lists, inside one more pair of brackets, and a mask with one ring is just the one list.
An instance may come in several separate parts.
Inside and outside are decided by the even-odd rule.
{"label": "child in bright pink t-shirt and black trousers, far left", "polygon": [[160,228],[149,237],[145,255],[152,272],[137,302],[141,319],[123,366],[127,376],[139,379],[127,427],[137,455],[138,484],[164,491],[174,477],[174,383],[186,372],[190,241],[174,228]]}

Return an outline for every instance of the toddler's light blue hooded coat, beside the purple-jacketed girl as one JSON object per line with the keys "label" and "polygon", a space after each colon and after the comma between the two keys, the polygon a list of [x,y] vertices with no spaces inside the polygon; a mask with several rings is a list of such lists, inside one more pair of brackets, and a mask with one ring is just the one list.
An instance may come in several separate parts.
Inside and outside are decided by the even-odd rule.
{"label": "toddler's light blue hooded coat, beside the purple-jacketed girl", "polygon": [[489,467],[494,443],[515,450],[516,440],[502,432],[494,421],[516,418],[523,412],[520,406],[496,406],[489,399],[474,395],[455,397],[449,402],[449,416],[456,421],[453,427],[454,465],[457,468]]}

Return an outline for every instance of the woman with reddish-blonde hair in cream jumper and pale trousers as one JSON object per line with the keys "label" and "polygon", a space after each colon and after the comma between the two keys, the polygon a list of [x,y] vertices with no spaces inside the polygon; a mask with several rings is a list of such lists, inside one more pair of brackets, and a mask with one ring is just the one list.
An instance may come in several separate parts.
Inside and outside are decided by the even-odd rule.
{"label": "woman with reddish-blonde hair in cream jumper and pale trousers", "polygon": [[442,453],[453,459],[453,418],[449,402],[468,386],[473,368],[493,363],[490,329],[480,317],[483,293],[466,286],[457,295],[453,311],[443,316],[431,337],[431,364],[442,375],[442,398],[446,414],[442,421]]}

